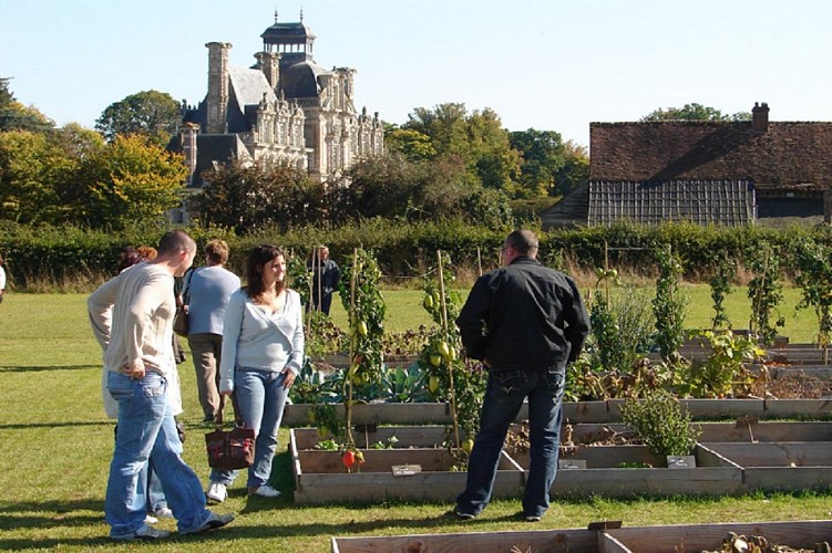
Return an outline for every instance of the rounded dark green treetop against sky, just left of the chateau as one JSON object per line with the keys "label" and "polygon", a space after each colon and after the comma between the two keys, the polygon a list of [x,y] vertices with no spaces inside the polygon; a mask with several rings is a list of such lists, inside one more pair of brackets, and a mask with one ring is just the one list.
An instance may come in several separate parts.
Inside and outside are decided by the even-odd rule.
{"label": "rounded dark green treetop against sky, just left of the chateau", "polygon": [[107,142],[117,135],[138,134],[165,146],[178,129],[182,109],[170,94],[144,91],[110,104],[95,122]]}

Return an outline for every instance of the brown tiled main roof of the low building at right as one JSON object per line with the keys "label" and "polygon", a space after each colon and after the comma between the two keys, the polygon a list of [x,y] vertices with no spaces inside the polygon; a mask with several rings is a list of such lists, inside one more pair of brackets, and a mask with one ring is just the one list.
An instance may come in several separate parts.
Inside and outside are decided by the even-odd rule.
{"label": "brown tiled main roof of the low building at right", "polygon": [[592,123],[592,181],[750,180],[832,188],[832,123]]}

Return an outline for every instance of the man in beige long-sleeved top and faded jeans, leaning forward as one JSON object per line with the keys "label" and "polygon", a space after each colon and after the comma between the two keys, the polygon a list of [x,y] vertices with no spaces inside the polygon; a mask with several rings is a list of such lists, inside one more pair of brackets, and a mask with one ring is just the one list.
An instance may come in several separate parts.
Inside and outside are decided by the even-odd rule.
{"label": "man in beige long-sleeved top and faded jeans, leaning forward", "polygon": [[202,484],[182,460],[182,441],[168,400],[173,357],[174,276],[193,263],[196,243],[185,232],[166,232],[152,261],[109,280],[86,301],[93,334],[104,349],[107,390],[119,404],[104,518],[110,538],[158,540],[170,533],[145,523],[141,473],[147,462],[162,481],[181,534],[224,526],[233,514],[205,508]]}

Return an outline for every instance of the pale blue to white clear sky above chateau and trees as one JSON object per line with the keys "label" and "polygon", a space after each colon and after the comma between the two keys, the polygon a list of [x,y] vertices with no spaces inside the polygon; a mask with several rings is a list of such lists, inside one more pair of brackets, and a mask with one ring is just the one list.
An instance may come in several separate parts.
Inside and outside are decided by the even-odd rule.
{"label": "pale blue to white clear sky above chateau and trees", "polygon": [[588,146],[590,122],[688,103],[832,121],[830,0],[0,0],[0,76],[58,125],[93,127],[141,91],[198,103],[205,43],[250,66],[275,12],[301,10],[315,61],[357,70],[357,108],[388,123],[463,103]]}

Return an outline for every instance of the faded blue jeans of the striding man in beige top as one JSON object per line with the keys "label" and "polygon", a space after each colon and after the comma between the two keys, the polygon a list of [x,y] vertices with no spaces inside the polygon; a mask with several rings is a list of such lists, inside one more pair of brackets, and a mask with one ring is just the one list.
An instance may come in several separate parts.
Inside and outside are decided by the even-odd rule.
{"label": "faded blue jeans of the striding man in beige top", "polygon": [[155,372],[141,380],[110,373],[107,389],[119,401],[119,432],[104,500],[110,536],[130,536],[144,526],[147,497],[141,474],[151,459],[179,532],[196,530],[210,512],[205,509],[199,479],[181,457],[167,382]]}

